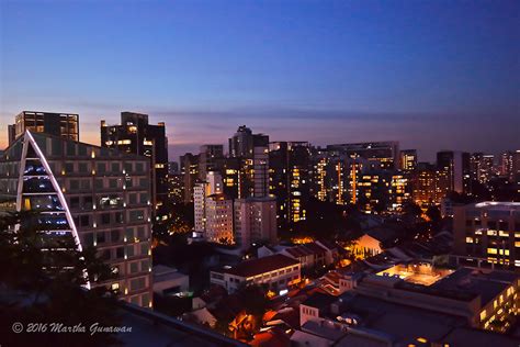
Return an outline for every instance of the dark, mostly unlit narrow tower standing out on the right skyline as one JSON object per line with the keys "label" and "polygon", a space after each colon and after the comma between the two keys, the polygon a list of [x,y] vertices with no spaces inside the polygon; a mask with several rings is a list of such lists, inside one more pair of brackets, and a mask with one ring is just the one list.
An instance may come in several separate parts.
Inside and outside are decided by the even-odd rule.
{"label": "dark, mostly unlit narrow tower standing out on the right skyline", "polygon": [[470,192],[470,154],[455,150],[437,153],[437,169],[445,171],[449,190],[457,193]]}

